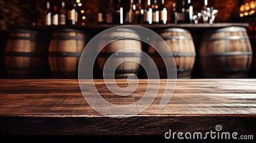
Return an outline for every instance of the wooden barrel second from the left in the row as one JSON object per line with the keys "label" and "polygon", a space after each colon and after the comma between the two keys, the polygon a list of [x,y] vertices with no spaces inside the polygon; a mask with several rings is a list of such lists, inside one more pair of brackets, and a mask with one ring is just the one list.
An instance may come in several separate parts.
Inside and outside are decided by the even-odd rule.
{"label": "wooden barrel second from the left in the row", "polygon": [[58,29],[52,33],[48,60],[52,77],[77,78],[80,56],[86,45],[86,36],[77,29]]}

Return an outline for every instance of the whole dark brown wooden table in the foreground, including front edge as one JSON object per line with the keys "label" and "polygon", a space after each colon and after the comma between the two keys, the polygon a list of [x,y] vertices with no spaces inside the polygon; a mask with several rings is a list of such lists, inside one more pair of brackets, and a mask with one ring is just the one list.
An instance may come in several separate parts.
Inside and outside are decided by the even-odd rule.
{"label": "whole dark brown wooden table in the foreground, including front edge", "polygon": [[[116,82],[127,86],[126,80]],[[125,104],[140,98],[147,80],[140,79],[140,90],[125,100],[110,93],[102,83],[103,80],[95,80],[102,97]],[[156,100],[145,111],[119,119],[93,110],[84,100],[76,79],[1,79],[0,135],[164,139],[169,129],[206,133],[216,131],[216,125],[220,124],[223,132],[256,138],[256,79],[178,79],[172,100],[159,109],[163,91],[161,86]]]}

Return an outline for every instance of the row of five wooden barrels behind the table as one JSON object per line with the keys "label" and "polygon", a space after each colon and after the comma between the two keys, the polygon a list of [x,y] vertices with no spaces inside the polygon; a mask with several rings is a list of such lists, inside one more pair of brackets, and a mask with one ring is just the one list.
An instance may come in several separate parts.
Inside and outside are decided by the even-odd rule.
{"label": "row of five wooden barrels behind the table", "polygon": [[[204,34],[199,52],[196,53],[193,36],[185,29],[169,28],[157,31],[172,50],[177,67],[177,78],[191,78],[195,59],[200,61],[202,77],[244,78],[252,66],[252,46],[244,27],[224,27]],[[38,36],[39,35],[39,36]],[[140,36],[132,29],[118,29],[108,37],[130,37],[109,43],[97,57],[96,78],[102,77],[104,63],[109,53],[127,47],[145,50],[149,56],[156,55],[149,45],[132,38]],[[77,78],[79,59],[88,43],[86,34],[79,29],[57,29],[51,33],[51,41],[38,42],[42,35],[31,29],[15,29],[10,32],[4,49],[4,64],[7,78],[38,78],[47,72],[53,78]],[[47,35],[45,35],[47,36]],[[102,39],[104,41],[104,39]],[[99,42],[100,43],[100,42]],[[47,45],[46,48],[45,46]],[[134,54],[131,54],[134,52]],[[117,62],[127,59],[140,61],[137,50],[129,51],[116,58]],[[161,78],[166,78],[166,66],[160,56],[152,56]],[[116,68],[116,78],[126,78],[131,73],[145,75],[140,64],[125,62]],[[141,76],[143,77],[143,76]]]}

